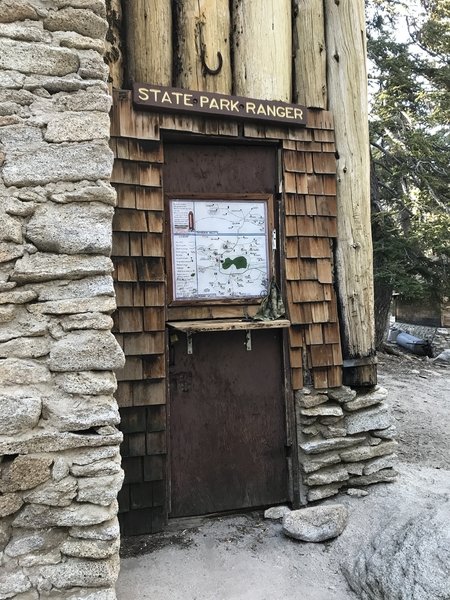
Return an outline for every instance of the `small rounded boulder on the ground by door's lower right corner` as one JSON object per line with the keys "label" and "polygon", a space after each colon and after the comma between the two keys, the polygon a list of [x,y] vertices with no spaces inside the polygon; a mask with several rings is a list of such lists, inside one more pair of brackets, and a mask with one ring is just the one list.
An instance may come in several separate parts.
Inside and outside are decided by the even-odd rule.
{"label": "small rounded boulder on the ground by door's lower right corner", "polygon": [[340,535],[347,519],[348,511],[342,504],[301,508],[283,517],[283,533],[303,542],[323,542]]}

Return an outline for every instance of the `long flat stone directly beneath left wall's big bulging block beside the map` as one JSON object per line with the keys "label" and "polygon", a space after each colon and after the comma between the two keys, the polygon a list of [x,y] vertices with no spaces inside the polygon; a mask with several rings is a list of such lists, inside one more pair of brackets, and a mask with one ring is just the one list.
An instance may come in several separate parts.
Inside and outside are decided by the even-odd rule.
{"label": "long flat stone directly beneath left wall's big bulging block beside the map", "polygon": [[106,256],[70,256],[37,252],[16,262],[11,279],[21,283],[80,279],[106,275],[112,270],[111,259]]}

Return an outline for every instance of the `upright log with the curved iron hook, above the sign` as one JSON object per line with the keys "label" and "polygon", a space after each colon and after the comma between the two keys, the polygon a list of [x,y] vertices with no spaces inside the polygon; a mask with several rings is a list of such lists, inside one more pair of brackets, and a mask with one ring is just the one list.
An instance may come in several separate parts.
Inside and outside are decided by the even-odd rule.
{"label": "upright log with the curved iron hook, above the sign", "polygon": [[175,6],[177,85],[231,94],[228,0],[179,0]]}

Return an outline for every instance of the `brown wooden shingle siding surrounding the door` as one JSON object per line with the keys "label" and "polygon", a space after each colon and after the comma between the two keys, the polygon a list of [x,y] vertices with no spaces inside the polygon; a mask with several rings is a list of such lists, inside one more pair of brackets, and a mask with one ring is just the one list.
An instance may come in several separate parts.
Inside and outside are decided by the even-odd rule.
{"label": "brown wooden shingle siding surrounding the door", "polygon": [[[300,478],[294,472],[300,470],[294,393],[303,388],[304,381],[317,389],[342,384],[339,321],[332,279],[337,208],[336,147],[331,113],[308,110],[305,128],[274,127],[212,117],[143,112],[133,107],[131,92],[119,90],[113,92],[111,120],[110,145],[115,155],[111,183],[118,192],[113,224],[119,307],[115,333],[124,347],[127,343],[130,347],[140,332],[161,332],[167,321],[164,315],[167,305],[164,308],[161,304],[165,296],[161,270],[164,232],[163,228],[150,229],[150,217],[146,216],[150,211],[152,218],[159,215],[158,222],[164,220],[161,173],[165,141],[183,142],[188,138],[203,143],[261,144],[280,148],[280,284],[291,322],[291,327],[284,333],[286,423],[293,445],[293,503],[306,503]],[[144,237],[151,238],[152,243],[146,248],[151,246],[156,250],[155,254],[144,251],[139,254],[133,250],[136,248],[133,244],[139,242],[140,236],[142,245]],[[157,310],[152,312],[151,322],[146,325],[143,305],[134,303],[134,295],[136,292],[141,297],[142,288],[146,290],[147,287],[151,288],[149,298],[152,302],[145,304],[145,310],[153,311],[152,307]],[[221,317],[214,313],[212,317],[198,318]],[[147,346],[145,354],[142,352],[144,350],[128,353],[131,358],[118,374],[116,398],[119,407],[166,403],[167,395],[163,397],[162,390],[167,383],[167,344],[164,354],[160,349],[147,349]],[[149,399],[146,394],[150,388],[150,393],[156,396]],[[145,456],[154,456],[155,451],[158,456],[166,456],[163,436],[158,440],[151,451],[147,449]],[[127,490],[124,493],[129,494]],[[167,497],[165,506],[167,508]]]}

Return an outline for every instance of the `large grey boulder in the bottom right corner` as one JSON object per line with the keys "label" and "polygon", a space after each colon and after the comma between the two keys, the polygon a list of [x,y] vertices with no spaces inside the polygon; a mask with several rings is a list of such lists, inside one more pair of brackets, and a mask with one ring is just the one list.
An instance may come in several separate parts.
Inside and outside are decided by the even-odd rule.
{"label": "large grey boulder in the bottom right corner", "polygon": [[450,598],[450,506],[395,515],[344,569],[361,600]]}

